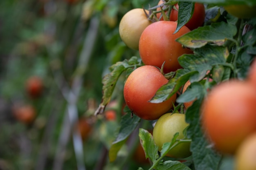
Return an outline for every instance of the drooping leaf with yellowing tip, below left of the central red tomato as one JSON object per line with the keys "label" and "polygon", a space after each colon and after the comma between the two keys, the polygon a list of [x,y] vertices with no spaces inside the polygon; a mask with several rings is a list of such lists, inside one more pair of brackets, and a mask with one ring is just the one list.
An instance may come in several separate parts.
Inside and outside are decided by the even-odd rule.
{"label": "drooping leaf with yellowing tip, below left of the central red tomato", "polygon": [[133,115],[133,118],[131,118],[129,114],[126,114],[121,118],[121,128],[108,153],[110,162],[115,161],[117,152],[125,144],[132,131],[138,126],[139,121],[140,118],[136,115]]}

